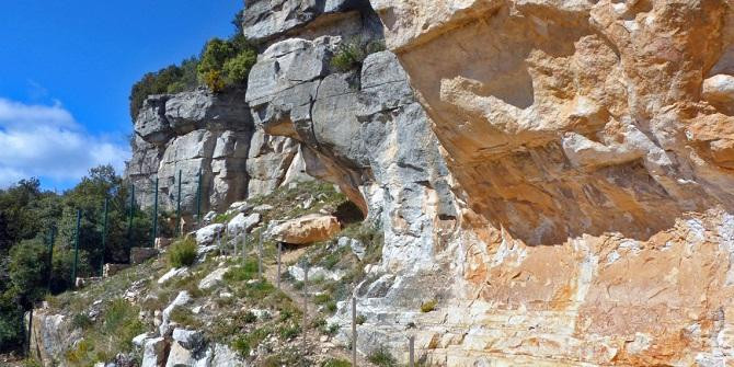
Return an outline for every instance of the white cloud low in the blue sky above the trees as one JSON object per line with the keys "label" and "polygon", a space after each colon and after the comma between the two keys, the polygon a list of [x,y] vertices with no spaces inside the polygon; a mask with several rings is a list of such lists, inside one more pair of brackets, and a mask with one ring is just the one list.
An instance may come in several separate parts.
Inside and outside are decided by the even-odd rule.
{"label": "white cloud low in the blue sky above the trees", "polygon": [[76,181],[100,164],[122,173],[129,154],[125,142],[85,131],[58,102],[27,105],[0,98],[0,187],[28,177]]}

